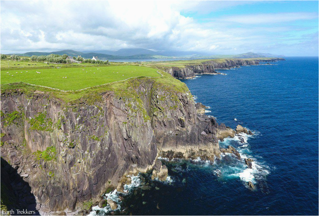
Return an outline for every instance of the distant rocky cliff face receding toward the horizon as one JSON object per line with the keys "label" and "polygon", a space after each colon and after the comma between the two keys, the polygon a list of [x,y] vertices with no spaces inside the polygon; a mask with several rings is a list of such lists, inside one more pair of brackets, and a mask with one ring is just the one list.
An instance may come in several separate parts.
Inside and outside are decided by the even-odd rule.
{"label": "distant rocky cliff face receding toward the horizon", "polygon": [[[201,64],[192,64],[191,61],[182,67],[167,67],[164,70],[178,79],[194,78],[196,74],[218,74],[216,69],[230,69],[246,65],[258,65],[260,62],[282,61],[284,58],[218,58],[203,60]],[[195,63],[195,62],[194,62]],[[197,62],[196,62],[197,63]],[[174,64],[173,64],[174,65]]]}

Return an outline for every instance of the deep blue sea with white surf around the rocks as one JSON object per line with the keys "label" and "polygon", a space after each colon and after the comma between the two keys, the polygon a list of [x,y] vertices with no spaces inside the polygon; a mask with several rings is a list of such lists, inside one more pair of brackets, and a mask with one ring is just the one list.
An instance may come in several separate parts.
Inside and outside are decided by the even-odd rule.
{"label": "deep blue sea with white surf around the rocks", "polygon": [[318,57],[272,64],[182,80],[207,115],[255,133],[247,143],[219,142],[253,158],[253,169],[231,155],[214,164],[163,160],[170,180],[141,175],[115,214],[318,215]]}

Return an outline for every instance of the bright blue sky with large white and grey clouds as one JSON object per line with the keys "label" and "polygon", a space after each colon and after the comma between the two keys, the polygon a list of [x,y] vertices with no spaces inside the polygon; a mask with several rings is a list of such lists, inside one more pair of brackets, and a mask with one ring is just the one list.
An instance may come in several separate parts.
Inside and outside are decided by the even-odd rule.
{"label": "bright blue sky with large white and grey clouds", "polygon": [[318,1],[0,1],[0,51],[318,56]]}

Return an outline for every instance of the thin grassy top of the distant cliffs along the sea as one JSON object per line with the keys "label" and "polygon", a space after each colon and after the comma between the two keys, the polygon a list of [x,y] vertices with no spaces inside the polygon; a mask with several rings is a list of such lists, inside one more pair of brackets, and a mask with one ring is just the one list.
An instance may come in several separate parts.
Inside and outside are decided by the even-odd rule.
{"label": "thin grassy top of the distant cliffs along the sea", "polygon": [[227,60],[272,60],[275,58],[260,57],[260,58],[213,58],[213,59],[195,59],[195,60],[178,60],[178,61],[160,61],[160,62],[143,62],[143,65],[154,67],[185,67],[187,65],[204,64],[205,62],[213,61],[216,63],[223,63]]}

